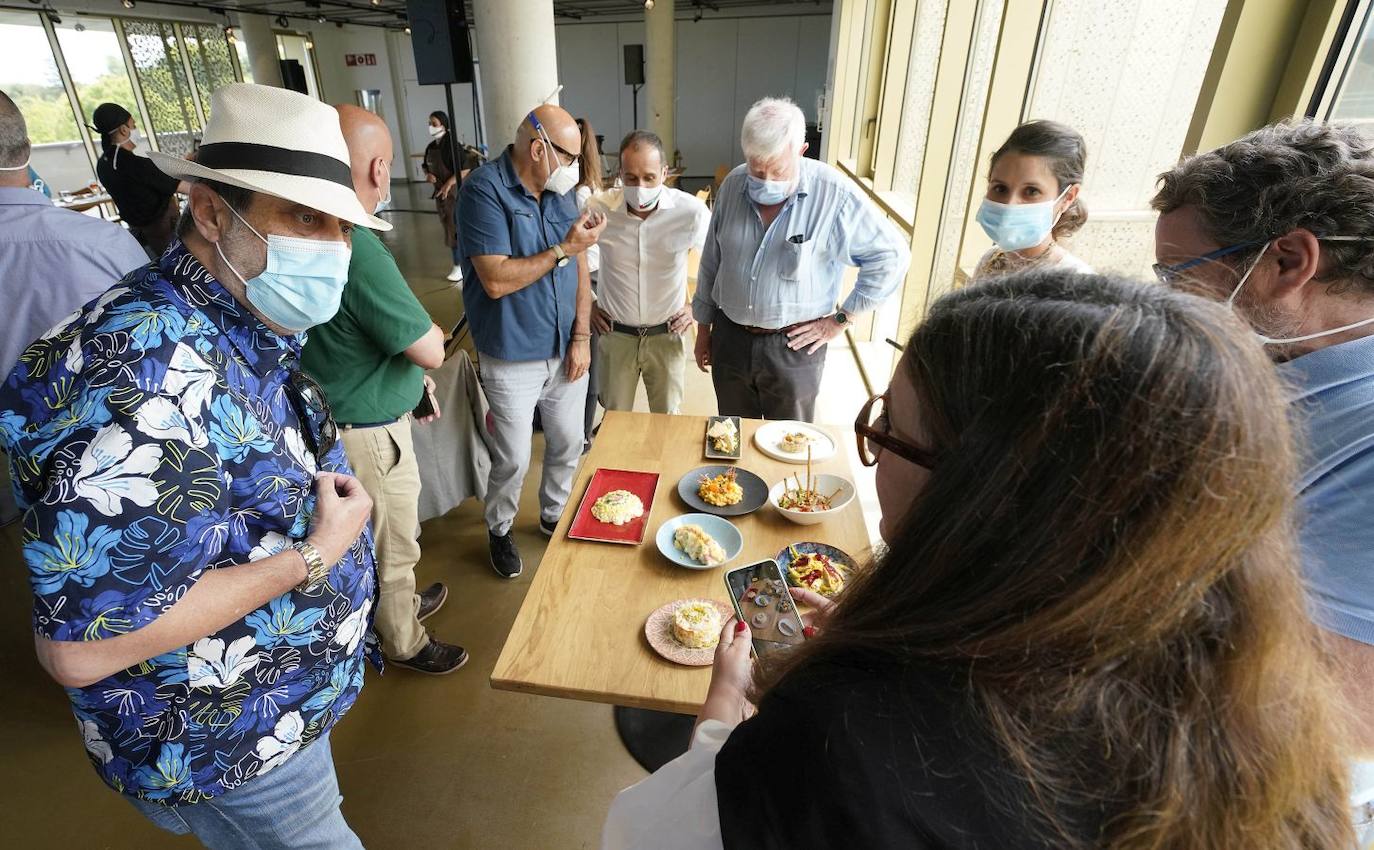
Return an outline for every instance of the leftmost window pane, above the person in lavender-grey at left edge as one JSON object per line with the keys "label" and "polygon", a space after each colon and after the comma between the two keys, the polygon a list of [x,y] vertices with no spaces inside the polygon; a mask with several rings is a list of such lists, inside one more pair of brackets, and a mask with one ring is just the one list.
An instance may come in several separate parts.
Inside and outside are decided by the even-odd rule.
{"label": "leftmost window pane, above the person in lavender-grey at left edge", "polygon": [[95,179],[85,140],[71,113],[36,12],[0,10],[0,89],[18,104],[33,143],[33,169],[55,189],[76,189]]}

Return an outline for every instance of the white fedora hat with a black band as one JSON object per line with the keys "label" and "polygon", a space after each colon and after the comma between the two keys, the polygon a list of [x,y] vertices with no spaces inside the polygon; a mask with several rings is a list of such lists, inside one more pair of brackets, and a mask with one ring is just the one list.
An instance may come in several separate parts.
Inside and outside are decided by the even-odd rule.
{"label": "white fedora hat with a black band", "polygon": [[195,162],[150,152],[179,180],[217,180],[262,192],[345,221],[389,231],[353,191],[348,144],[333,106],[298,92],[231,82],[210,97],[210,121]]}

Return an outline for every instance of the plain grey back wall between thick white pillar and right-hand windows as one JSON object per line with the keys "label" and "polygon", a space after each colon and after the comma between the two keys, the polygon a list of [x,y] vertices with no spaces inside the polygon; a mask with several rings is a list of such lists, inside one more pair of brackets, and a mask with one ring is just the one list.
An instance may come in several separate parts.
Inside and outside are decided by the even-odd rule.
{"label": "plain grey back wall between thick white pillar and right-hand windows", "polygon": [[[555,33],[563,107],[591,119],[614,150],[633,129],[624,45],[643,44],[644,25],[561,23]],[[676,132],[687,176],[712,177],[743,159],[739,124],[758,97],[787,95],[815,121],[829,43],[830,15],[679,21]],[[643,97],[640,89],[640,125]]]}

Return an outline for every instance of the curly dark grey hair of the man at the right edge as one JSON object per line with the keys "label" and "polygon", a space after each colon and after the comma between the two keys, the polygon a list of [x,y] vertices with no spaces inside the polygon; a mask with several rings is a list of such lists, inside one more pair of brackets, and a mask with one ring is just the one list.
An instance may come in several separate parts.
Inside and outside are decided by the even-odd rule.
{"label": "curly dark grey hair of the man at the right edge", "polygon": [[1374,294],[1374,144],[1349,125],[1283,121],[1260,128],[1160,174],[1150,205],[1160,213],[1193,207],[1219,246],[1249,262],[1265,242],[1303,228],[1322,239],[1333,294]]}

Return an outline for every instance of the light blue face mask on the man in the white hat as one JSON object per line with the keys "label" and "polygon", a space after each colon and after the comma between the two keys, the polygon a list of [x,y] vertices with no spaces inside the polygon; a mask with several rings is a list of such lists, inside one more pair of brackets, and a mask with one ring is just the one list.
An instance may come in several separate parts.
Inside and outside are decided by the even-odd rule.
{"label": "light blue face mask on the man in the white hat", "polygon": [[[225,205],[228,206],[228,205]],[[239,221],[238,210],[229,211]],[[272,233],[262,238],[253,225],[243,227],[267,243],[267,268],[251,280],[229,264],[220,243],[214,243],[220,261],[239,279],[247,294],[249,303],[275,325],[291,334],[300,334],[317,324],[324,324],[339,310],[344,284],[348,283],[348,264],[352,249],[342,242],[322,242],[319,239],[297,239]]]}

